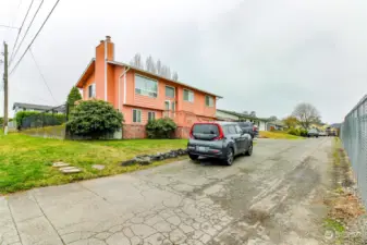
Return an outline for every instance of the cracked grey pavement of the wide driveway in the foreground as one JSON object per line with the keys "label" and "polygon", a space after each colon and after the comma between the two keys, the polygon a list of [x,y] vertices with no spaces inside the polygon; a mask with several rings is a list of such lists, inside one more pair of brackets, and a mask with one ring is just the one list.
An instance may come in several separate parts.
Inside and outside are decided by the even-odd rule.
{"label": "cracked grey pavement of the wide driveway in the foreground", "polygon": [[323,244],[331,138],[258,139],[232,167],[184,160],[0,197],[0,245]]}

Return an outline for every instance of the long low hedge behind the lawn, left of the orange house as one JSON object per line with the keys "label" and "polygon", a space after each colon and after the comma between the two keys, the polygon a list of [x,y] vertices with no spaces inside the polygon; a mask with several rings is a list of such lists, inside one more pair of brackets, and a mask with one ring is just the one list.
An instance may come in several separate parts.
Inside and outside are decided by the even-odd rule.
{"label": "long low hedge behind the lawn, left of the orange house", "polygon": [[19,130],[24,127],[40,127],[61,125],[65,122],[64,114],[41,113],[38,111],[19,111],[15,114],[15,122]]}

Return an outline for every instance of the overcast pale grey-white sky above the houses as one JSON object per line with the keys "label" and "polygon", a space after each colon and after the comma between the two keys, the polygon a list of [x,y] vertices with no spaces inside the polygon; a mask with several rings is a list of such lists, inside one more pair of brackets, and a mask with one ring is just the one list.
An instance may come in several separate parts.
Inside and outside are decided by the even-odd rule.
{"label": "overcast pale grey-white sky above the houses", "polygon": [[[0,0],[0,25],[20,27],[30,2]],[[14,61],[54,2],[45,0]],[[283,118],[310,102],[322,121],[341,122],[367,94],[366,13],[366,0],[61,0],[32,48],[56,101],[27,53],[10,76],[10,106],[61,105],[110,35],[115,60],[159,58],[180,81],[223,96],[220,109]],[[0,27],[10,53],[16,34]]]}

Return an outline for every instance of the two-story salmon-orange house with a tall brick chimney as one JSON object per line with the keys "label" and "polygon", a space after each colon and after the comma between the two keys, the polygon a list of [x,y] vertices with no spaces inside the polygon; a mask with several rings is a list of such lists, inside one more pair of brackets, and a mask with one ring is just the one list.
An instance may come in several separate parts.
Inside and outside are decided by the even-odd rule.
{"label": "two-story salmon-orange house with a tall brick chimney", "polygon": [[124,138],[143,138],[148,120],[171,118],[176,137],[188,137],[194,122],[213,121],[216,101],[220,96],[181,82],[114,61],[114,44],[107,36],[96,47],[76,87],[83,99],[101,99],[124,115]]}

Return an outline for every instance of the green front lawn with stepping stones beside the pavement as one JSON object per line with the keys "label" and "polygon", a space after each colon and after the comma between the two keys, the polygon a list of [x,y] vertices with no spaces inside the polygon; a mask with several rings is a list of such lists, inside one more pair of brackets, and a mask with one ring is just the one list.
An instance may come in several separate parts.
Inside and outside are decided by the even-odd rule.
{"label": "green front lawn with stepping stones beside the pavement", "polygon": [[[72,142],[0,133],[0,194],[148,168],[121,167],[119,163],[139,154],[185,148],[186,143],[187,139]],[[56,161],[79,167],[83,172],[64,175],[51,167]],[[95,170],[93,164],[105,164],[106,168]]]}

